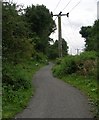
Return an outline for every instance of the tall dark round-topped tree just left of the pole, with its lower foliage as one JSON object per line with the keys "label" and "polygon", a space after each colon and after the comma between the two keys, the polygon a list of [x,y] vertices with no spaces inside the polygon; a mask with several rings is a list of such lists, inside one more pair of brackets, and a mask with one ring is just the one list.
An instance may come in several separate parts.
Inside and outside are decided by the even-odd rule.
{"label": "tall dark round-topped tree just left of the pole, with its lower foliage", "polygon": [[31,7],[26,8],[24,16],[31,31],[39,38],[35,41],[36,49],[40,52],[46,53],[49,35],[56,28],[51,13],[44,5],[32,5]]}

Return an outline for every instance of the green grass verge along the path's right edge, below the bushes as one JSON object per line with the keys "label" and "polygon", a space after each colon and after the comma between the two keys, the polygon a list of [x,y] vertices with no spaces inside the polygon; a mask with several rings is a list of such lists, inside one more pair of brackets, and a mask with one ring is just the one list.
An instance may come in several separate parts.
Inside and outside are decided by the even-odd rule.
{"label": "green grass verge along the path's right edge, below the bushes", "polygon": [[72,86],[78,88],[89,98],[89,103],[91,104],[91,111],[94,117],[97,116],[97,81],[91,77],[78,76],[76,74],[67,75],[61,78],[64,82],[71,84]]}

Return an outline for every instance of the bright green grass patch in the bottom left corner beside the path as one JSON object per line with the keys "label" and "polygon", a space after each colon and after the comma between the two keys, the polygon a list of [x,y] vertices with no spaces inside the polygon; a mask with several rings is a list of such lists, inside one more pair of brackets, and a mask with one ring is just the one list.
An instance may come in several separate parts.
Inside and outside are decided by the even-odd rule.
{"label": "bright green grass patch in the bottom left corner beside the path", "polygon": [[5,103],[3,106],[3,118],[12,118],[16,113],[22,111],[33,95],[33,92],[32,89],[28,89],[19,90],[14,94],[16,94],[16,96],[14,97],[13,102]]}

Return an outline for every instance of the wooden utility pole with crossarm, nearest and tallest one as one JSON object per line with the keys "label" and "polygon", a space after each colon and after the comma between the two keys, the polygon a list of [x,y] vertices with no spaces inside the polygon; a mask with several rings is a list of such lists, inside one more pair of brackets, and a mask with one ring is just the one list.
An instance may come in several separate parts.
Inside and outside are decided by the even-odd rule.
{"label": "wooden utility pole with crossarm, nearest and tallest one", "polygon": [[[52,13],[51,13],[52,14]],[[67,16],[69,17],[69,13],[67,14],[62,14],[60,12],[59,14],[53,15],[52,16],[57,16],[58,17],[58,49],[59,49],[59,57],[62,57],[62,30],[61,30],[61,16]]]}

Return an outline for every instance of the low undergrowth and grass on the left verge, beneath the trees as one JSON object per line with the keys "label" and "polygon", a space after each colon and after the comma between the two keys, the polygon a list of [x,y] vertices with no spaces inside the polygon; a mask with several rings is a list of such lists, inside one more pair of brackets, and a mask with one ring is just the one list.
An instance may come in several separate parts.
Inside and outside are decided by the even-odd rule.
{"label": "low undergrowth and grass on the left verge, beneath the trees", "polygon": [[3,64],[2,117],[12,118],[27,106],[35,92],[33,74],[47,63],[46,59],[21,64]]}

